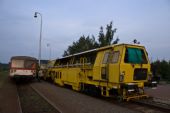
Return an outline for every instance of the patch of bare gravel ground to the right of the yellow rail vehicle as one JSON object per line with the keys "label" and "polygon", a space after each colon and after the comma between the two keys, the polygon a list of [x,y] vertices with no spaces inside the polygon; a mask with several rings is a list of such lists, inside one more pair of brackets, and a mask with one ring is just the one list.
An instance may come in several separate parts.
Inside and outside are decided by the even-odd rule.
{"label": "patch of bare gravel ground to the right of the yellow rail vehicle", "polygon": [[170,84],[158,85],[156,89],[145,89],[146,94],[156,97],[170,100]]}

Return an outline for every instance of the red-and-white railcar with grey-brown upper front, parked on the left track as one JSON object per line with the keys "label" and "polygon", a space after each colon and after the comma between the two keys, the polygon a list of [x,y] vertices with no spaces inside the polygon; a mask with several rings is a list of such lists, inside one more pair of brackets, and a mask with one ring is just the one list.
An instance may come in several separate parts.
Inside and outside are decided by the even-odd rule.
{"label": "red-and-white railcar with grey-brown upper front, parked on the left track", "polygon": [[33,79],[37,71],[37,59],[29,56],[14,56],[10,61],[9,76],[14,79]]}

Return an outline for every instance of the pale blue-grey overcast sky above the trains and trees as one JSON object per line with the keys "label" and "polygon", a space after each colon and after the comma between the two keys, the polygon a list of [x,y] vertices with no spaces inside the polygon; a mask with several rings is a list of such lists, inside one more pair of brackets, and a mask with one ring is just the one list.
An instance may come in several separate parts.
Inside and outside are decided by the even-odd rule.
{"label": "pale blue-grey overcast sky above the trains and trees", "polygon": [[[0,0],[0,62],[12,56],[38,57],[43,15],[42,58],[61,57],[82,35],[98,39],[113,21],[120,43],[137,39],[152,60],[170,59],[170,0]],[[50,46],[47,47],[47,44]]]}

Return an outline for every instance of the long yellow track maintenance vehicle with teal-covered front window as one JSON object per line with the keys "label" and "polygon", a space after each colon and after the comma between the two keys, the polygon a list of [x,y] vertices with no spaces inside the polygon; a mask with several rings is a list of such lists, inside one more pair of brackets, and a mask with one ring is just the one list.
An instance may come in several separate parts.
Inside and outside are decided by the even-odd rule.
{"label": "long yellow track maintenance vehicle with teal-covered front window", "polygon": [[48,77],[74,90],[130,100],[147,97],[144,82],[151,74],[144,46],[116,44],[55,61]]}

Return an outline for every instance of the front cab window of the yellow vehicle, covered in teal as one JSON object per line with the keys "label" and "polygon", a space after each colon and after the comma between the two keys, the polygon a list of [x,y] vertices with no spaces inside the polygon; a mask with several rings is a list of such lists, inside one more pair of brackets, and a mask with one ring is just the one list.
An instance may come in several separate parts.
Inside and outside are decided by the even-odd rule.
{"label": "front cab window of the yellow vehicle, covered in teal", "polygon": [[139,48],[126,48],[125,63],[146,64],[147,59],[144,50]]}

